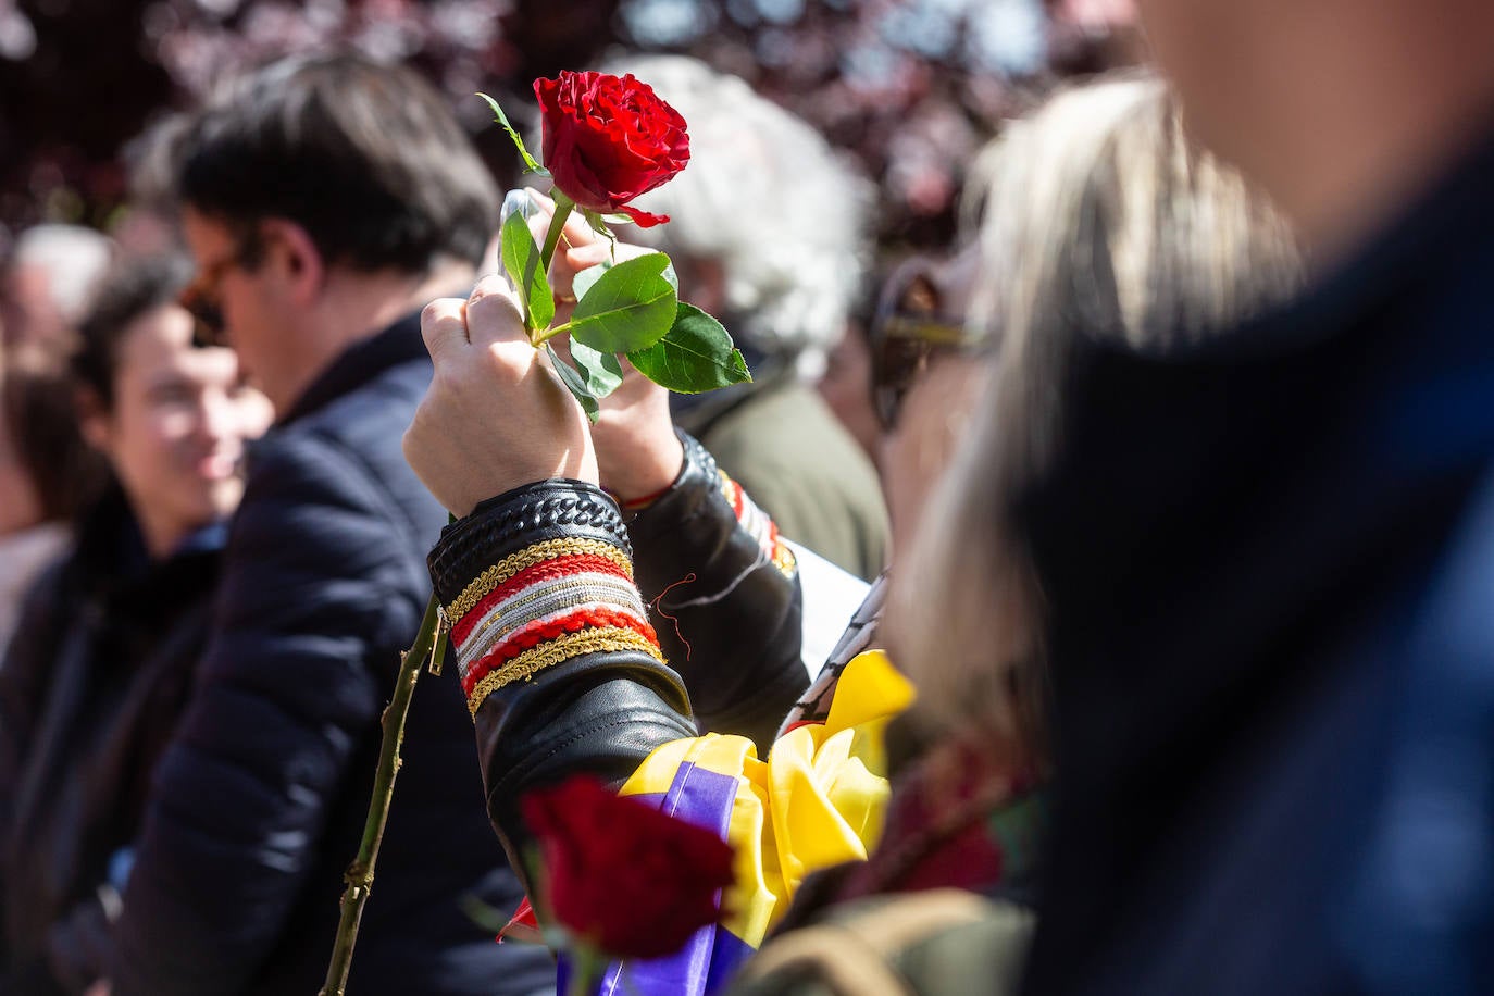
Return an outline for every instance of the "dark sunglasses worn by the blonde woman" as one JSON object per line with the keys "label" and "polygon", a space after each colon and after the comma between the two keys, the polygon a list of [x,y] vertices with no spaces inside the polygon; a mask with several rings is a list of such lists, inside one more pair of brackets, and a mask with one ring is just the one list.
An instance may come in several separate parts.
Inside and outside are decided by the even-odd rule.
{"label": "dark sunglasses worn by the blonde woman", "polygon": [[867,337],[871,402],[884,432],[896,429],[902,402],[934,357],[976,345],[976,336],[949,318],[935,270],[925,260],[911,260],[892,273]]}

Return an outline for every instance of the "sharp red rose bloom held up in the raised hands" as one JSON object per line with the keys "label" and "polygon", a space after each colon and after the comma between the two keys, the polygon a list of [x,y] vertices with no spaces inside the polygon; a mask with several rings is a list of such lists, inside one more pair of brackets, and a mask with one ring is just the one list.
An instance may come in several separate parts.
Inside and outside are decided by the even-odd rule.
{"label": "sharp red rose bloom held up in the raised hands", "polygon": [[690,161],[690,137],[678,111],[632,73],[562,72],[559,79],[536,79],[535,96],[544,118],[545,169],[566,197],[587,211],[620,211],[645,228],[669,221],[627,202]]}

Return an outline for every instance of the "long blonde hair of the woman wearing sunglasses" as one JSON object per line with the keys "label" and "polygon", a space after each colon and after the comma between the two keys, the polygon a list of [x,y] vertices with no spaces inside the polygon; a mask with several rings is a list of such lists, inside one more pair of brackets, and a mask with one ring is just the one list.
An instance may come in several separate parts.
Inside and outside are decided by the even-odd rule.
{"label": "long blonde hair of the woman wearing sunglasses", "polygon": [[895,654],[944,726],[1043,744],[1041,593],[1010,508],[1059,446],[1080,339],[1164,349],[1233,327],[1300,282],[1292,237],[1194,148],[1161,82],[1061,93],[977,161],[992,388],[935,488],[889,612]]}

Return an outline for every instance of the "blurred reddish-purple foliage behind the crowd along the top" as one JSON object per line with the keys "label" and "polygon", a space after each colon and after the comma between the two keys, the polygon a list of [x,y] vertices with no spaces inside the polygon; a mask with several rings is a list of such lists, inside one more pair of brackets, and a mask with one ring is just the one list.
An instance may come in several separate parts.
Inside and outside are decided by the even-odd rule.
{"label": "blurred reddish-purple foliage behind the crowd along the top", "polygon": [[1055,78],[1129,61],[1129,0],[0,0],[0,254],[39,221],[115,228],[131,139],[224,72],[353,45],[450,94],[500,179],[536,76],[614,46],[698,55],[855,154],[878,243],[940,246],[962,164]]}

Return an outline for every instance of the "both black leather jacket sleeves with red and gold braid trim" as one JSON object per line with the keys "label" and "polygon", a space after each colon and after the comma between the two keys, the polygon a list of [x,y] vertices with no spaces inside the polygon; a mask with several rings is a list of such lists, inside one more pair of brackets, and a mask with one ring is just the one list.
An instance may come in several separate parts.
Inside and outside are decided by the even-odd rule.
{"label": "both black leather jacket sleeves with red and gold braid trim", "polygon": [[[601,490],[542,481],[484,502],[450,526],[430,554],[435,590],[456,627],[489,815],[515,868],[530,850],[518,800],[532,788],[575,772],[622,784],[660,744],[695,736],[698,720],[702,729],[753,736],[766,753],[808,684],[792,554],[710,454],[684,442],[680,478],[626,524]],[[563,573],[562,553],[599,544],[633,572],[636,588],[626,588],[633,611],[642,614],[648,602],[653,647],[577,653],[538,670],[520,656],[517,664],[484,670],[493,663],[478,659],[481,645],[492,650],[508,639],[493,633],[524,620],[533,626],[538,617],[524,615],[523,605],[550,597],[541,588]],[[560,553],[536,567],[545,550]],[[529,582],[530,575],[550,581]],[[574,602],[569,611],[578,617],[583,603],[595,609],[595,600]],[[499,675],[505,667],[508,678]],[[502,684],[492,685],[495,679]],[[692,718],[692,703],[708,711]]]}

